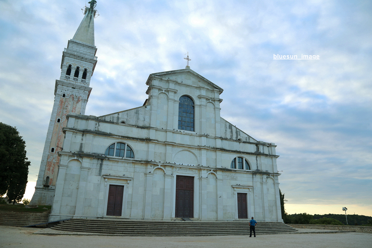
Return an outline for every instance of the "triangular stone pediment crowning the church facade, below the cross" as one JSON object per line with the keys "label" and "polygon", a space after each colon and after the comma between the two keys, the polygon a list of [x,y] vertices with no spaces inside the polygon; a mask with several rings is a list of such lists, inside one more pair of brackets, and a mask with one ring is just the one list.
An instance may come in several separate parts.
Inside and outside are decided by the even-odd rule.
{"label": "triangular stone pediment crowning the church facade, below the cross", "polygon": [[221,94],[224,89],[217,86],[216,84],[212,83],[202,75],[196,73],[195,71],[187,68],[175,71],[164,71],[160,73],[152,73],[148,76],[146,81],[147,85],[151,84],[151,81],[154,78],[158,78],[160,80],[167,80],[174,84],[189,84],[190,86],[196,87],[205,87],[210,90],[218,90],[219,94]]}

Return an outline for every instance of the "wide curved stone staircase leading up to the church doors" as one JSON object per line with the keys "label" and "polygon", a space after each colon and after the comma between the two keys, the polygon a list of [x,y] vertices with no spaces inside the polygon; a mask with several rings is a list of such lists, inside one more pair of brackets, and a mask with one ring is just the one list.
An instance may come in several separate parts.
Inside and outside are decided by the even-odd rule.
{"label": "wide curved stone staircase leading up to the church doors", "polygon": [[[201,221],[135,221],[106,219],[71,219],[52,229],[69,232],[89,232],[108,236],[216,236],[249,235],[248,222]],[[259,222],[256,234],[296,232],[295,228],[280,222]]]}

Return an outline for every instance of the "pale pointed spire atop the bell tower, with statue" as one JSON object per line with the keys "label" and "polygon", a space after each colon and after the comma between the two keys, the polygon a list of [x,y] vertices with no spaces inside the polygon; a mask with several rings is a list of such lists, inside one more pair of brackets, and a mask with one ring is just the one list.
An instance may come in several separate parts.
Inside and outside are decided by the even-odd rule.
{"label": "pale pointed spire atop the bell tower, with statue", "polygon": [[94,7],[96,7],[97,1],[92,0],[89,3],[90,7],[85,7],[84,18],[77,28],[73,39],[94,46],[94,15],[97,12]]}

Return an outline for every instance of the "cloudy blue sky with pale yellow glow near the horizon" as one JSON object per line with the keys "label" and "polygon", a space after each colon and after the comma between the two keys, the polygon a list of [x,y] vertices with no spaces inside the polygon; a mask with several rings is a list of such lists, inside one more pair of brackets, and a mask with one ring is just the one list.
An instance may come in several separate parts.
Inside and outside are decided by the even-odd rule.
{"label": "cloudy blue sky with pale yellow glow near the horizon", "polygon": [[[31,161],[31,199],[82,0],[0,0],[0,122]],[[151,73],[190,67],[224,89],[221,117],[273,142],[286,212],[372,216],[372,2],[97,0],[86,115],[142,106]],[[319,59],[273,59],[315,55]]]}

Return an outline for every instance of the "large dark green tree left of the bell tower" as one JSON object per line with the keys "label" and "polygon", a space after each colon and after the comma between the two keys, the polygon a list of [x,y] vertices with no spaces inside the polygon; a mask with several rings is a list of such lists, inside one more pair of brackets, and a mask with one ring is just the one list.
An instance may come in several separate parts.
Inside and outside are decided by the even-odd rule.
{"label": "large dark green tree left of the bell tower", "polygon": [[25,194],[28,167],[26,145],[16,128],[0,122],[0,196],[19,202]]}

